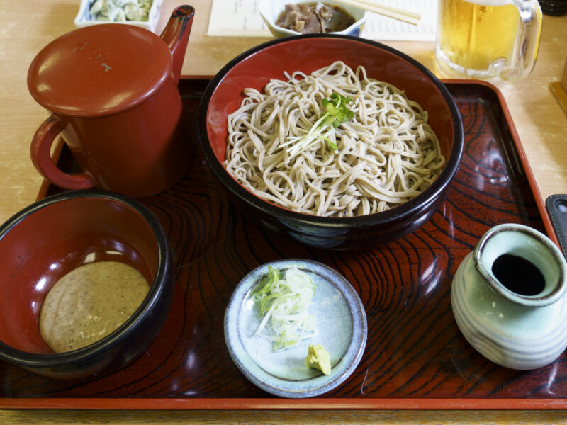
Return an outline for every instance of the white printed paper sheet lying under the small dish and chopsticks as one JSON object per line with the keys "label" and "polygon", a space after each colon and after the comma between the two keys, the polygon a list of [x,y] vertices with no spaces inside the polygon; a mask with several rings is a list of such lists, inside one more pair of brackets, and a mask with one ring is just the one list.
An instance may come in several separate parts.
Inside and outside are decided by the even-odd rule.
{"label": "white printed paper sheet lying under the small dish and chopsticks", "polygon": [[[207,35],[270,37],[257,11],[257,0],[213,0]],[[420,13],[417,26],[376,13],[366,13],[361,37],[370,40],[434,41],[437,28],[437,0],[379,0],[376,4]]]}

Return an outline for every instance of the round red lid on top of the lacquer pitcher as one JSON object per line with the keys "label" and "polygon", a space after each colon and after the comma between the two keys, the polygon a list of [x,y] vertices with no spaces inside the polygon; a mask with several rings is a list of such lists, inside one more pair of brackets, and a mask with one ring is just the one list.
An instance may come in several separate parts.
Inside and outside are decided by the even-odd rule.
{"label": "round red lid on top of the lacquer pitcher", "polygon": [[128,24],[96,24],[46,45],[28,69],[28,89],[49,111],[101,116],[124,111],[157,91],[172,54],[154,33]]}

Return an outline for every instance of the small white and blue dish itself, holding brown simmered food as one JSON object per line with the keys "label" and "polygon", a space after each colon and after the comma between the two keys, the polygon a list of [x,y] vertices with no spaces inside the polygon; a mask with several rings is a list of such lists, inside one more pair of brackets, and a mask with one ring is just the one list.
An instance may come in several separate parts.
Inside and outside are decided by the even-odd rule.
{"label": "small white and blue dish itself, holding brown simmered food", "polygon": [[[260,0],[258,2],[258,11],[262,16],[262,19],[268,26],[268,29],[275,37],[287,37],[288,35],[299,35],[297,31],[288,30],[287,28],[282,28],[281,26],[277,26],[276,22],[278,18],[283,12],[283,9],[286,7],[286,4],[297,4],[297,3],[308,3],[305,0]],[[336,31],[332,34],[343,34],[343,35],[353,35],[359,36],[362,32],[362,28],[364,27],[364,23],[366,22],[366,11],[362,10],[361,8],[357,8],[354,6],[348,6],[344,4],[339,4],[336,1],[323,1],[322,3],[325,4],[337,4],[340,6],[344,11],[349,13],[355,20],[355,22],[342,31]]]}

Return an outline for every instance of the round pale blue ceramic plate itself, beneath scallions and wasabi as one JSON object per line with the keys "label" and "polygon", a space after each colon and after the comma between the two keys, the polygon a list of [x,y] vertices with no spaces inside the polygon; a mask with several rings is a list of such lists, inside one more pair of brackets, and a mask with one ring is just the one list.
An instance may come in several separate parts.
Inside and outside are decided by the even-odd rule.
{"label": "round pale blue ceramic plate itself, beneath scallions and wasabi", "polygon": [[[318,333],[278,352],[271,341],[254,336],[259,317],[251,294],[269,266],[281,272],[297,266],[317,288],[308,314],[317,320]],[[287,398],[315,397],[349,378],[364,353],[367,329],[364,306],[348,280],[322,263],[303,259],[273,261],[248,273],[225,312],[225,340],[237,368],[262,390]],[[321,344],[329,352],[330,375],[305,366],[309,344]]]}

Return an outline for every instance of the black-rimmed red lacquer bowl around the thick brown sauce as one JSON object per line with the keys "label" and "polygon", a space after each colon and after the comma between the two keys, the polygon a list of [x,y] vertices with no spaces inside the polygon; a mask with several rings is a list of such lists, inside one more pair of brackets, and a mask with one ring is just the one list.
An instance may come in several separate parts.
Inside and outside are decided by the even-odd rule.
{"label": "black-rimmed red lacquer bowl around the thick brown sauce", "polygon": [[[54,353],[40,335],[43,299],[85,263],[120,261],[150,283],[118,329],[78,350]],[[119,368],[150,346],[172,302],[169,242],[150,210],[106,191],[70,191],[21,210],[0,227],[0,359],[50,378]],[[112,296],[112,294],[109,294]]]}

